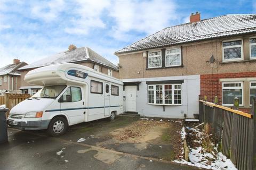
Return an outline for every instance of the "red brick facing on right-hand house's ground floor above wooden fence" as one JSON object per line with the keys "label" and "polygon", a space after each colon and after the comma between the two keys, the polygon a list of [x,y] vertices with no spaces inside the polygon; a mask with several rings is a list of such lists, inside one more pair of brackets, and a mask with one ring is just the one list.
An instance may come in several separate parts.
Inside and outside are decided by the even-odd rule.
{"label": "red brick facing on right-hand house's ground floor above wooden fence", "polygon": [[[218,104],[221,105],[222,84],[220,79],[229,78],[251,78],[256,77],[256,72],[243,73],[222,73],[222,74],[202,74],[200,75],[200,95],[207,96],[207,101],[213,102],[214,97],[218,96]],[[239,109],[243,112],[250,113],[250,109]]]}

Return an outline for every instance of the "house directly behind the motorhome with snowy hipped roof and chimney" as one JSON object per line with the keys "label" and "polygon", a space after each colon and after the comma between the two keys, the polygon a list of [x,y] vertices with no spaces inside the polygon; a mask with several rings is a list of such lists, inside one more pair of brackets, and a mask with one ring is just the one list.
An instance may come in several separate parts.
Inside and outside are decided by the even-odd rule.
{"label": "house directly behind the motorhome with snowy hipped roof and chimney", "polygon": [[42,88],[41,86],[34,86],[33,84],[28,84],[26,81],[24,81],[25,75],[30,70],[36,69],[38,67],[61,63],[81,64],[115,78],[119,77],[118,66],[111,63],[106,58],[94,52],[89,47],[76,48],[76,46],[70,45],[68,50],[65,52],[60,52],[58,54],[46,57],[42,60],[21,67],[19,71],[21,72],[20,90],[22,90],[22,93],[34,95],[39,89]]}

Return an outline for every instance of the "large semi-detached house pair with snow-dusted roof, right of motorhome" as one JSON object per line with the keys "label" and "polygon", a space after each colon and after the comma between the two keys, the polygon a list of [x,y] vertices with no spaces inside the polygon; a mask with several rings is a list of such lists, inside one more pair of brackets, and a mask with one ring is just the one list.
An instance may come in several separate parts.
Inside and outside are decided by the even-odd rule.
{"label": "large semi-detached house pair with snow-dusted roof, right of motorhome", "polygon": [[[256,96],[256,15],[229,14],[165,28],[115,54],[126,112],[193,118],[198,96],[250,112]],[[185,115],[186,114],[186,115]]]}

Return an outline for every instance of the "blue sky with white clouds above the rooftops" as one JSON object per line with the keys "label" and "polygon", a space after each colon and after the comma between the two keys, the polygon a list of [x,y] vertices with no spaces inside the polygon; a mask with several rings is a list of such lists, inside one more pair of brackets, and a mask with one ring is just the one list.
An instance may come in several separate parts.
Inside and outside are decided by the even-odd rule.
{"label": "blue sky with white clouds above the rooftops", "polygon": [[0,0],[0,67],[68,49],[90,47],[117,64],[114,52],[156,31],[201,19],[256,13],[256,1]]}

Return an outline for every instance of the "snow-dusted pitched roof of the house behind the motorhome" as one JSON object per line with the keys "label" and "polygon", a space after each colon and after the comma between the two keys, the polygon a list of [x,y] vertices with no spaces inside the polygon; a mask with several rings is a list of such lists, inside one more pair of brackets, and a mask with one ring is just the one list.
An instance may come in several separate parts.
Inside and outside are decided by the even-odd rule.
{"label": "snow-dusted pitched roof of the house behind the motorhome", "polygon": [[118,70],[118,67],[115,64],[111,63],[106,58],[94,52],[89,47],[81,47],[71,51],[60,52],[50,57],[46,57],[42,60],[23,66],[19,70],[34,69],[37,67],[53,64],[77,63],[82,61],[94,61],[96,63]]}

